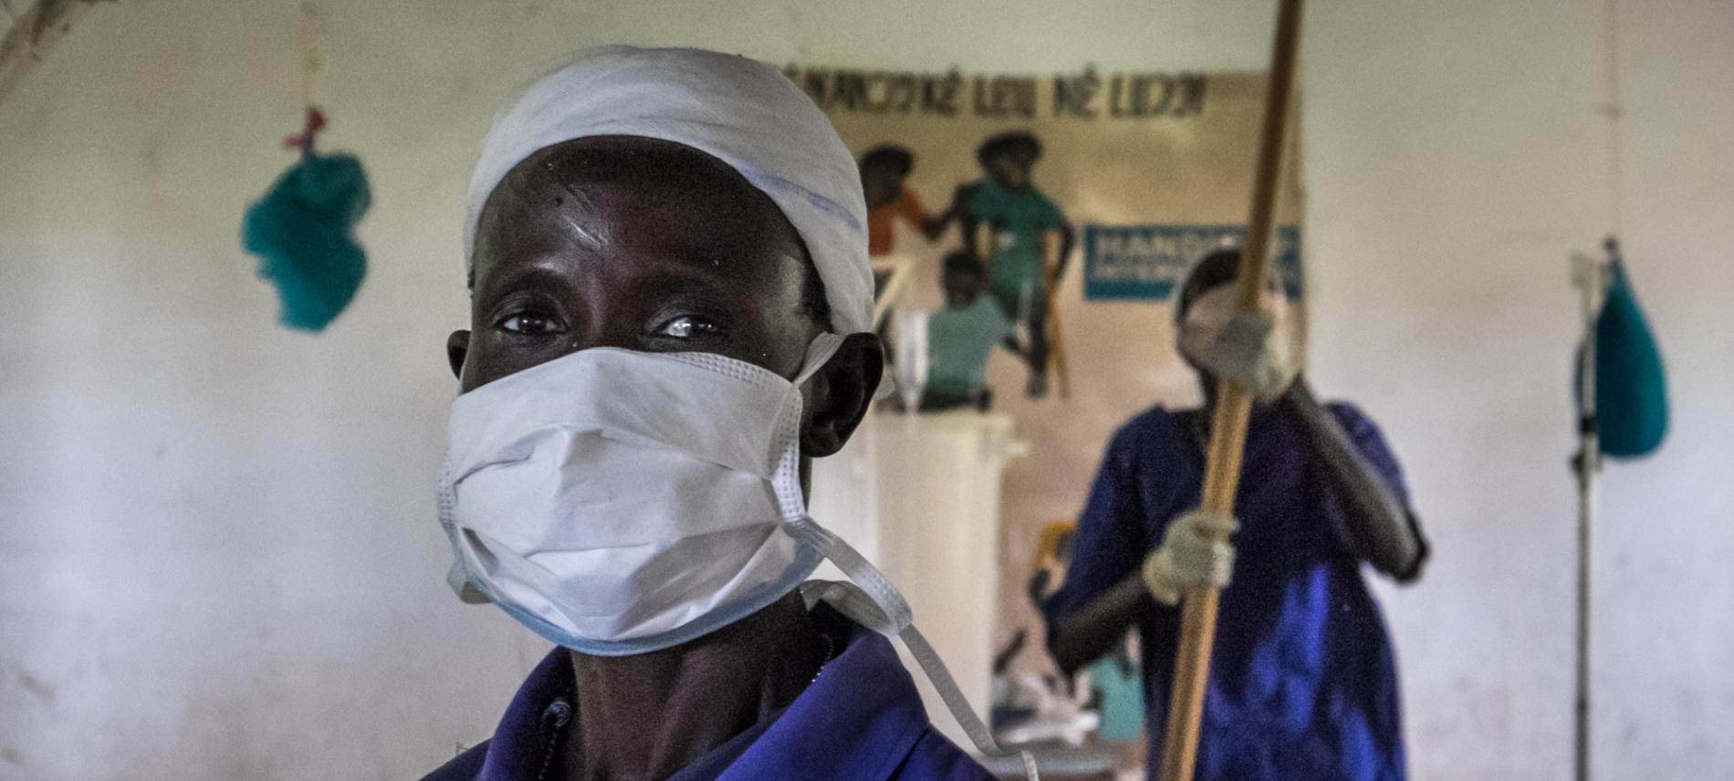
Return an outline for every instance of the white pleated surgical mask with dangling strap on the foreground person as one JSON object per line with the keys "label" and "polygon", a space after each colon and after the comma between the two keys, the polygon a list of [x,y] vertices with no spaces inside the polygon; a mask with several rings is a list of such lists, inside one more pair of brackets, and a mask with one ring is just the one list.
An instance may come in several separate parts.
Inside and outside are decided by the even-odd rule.
{"label": "white pleated surgical mask with dangling strap on the foreground person", "polygon": [[976,746],[1002,753],[896,587],[806,514],[799,386],[841,343],[815,338],[794,381],[711,353],[591,348],[458,397],[439,487],[453,587],[560,646],[624,656],[763,610],[829,558],[855,584],[803,594],[902,637]]}

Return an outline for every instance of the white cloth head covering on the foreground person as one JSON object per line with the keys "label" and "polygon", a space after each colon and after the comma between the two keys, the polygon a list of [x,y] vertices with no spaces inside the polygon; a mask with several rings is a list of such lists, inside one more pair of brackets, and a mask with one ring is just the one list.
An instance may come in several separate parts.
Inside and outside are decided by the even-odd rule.
{"label": "white cloth head covering on the foreground person", "polygon": [[699,48],[602,47],[536,80],[494,118],[470,178],[465,263],[499,180],[550,145],[642,135],[707,152],[770,196],[801,234],[839,334],[872,329],[867,203],[848,147],[775,68]]}

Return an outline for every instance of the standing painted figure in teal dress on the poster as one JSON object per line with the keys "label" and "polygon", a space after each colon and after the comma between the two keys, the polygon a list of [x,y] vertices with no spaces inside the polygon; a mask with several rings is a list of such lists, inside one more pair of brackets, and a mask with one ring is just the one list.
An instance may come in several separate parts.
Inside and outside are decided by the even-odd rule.
{"label": "standing painted figure in teal dress on the poster", "polygon": [[[1047,395],[1051,294],[1072,255],[1075,230],[1059,206],[1035,187],[1033,168],[1042,142],[1027,132],[988,137],[976,149],[981,180],[961,190],[959,218],[964,249],[987,260],[987,287],[1001,310],[1025,329],[1023,357],[1030,364],[1025,391]],[[987,227],[983,255],[980,229]],[[1047,234],[1058,234],[1058,253],[1047,260]]]}

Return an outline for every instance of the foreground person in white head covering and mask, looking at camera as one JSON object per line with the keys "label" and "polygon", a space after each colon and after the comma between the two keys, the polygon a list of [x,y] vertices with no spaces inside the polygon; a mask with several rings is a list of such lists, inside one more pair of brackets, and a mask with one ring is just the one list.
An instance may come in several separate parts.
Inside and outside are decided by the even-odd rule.
{"label": "foreground person in white head covering and mask, looking at camera", "polygon": [[883,365],[825,116],[747,59],[586,52],[496,119],[465,236],[451,584],[560,648],[428,778],[988,779],[886,639],[938,670],[896,589],[806,514]]}

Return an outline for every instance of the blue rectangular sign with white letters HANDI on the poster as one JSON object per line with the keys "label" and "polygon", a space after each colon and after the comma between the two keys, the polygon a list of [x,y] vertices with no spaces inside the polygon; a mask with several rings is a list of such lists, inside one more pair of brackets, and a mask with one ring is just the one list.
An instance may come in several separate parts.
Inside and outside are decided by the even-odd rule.
{"label": "blue rectangular sign with white letters HANDI on the poster", "polygon": [[[1300,229],[1274,234],[1283,291],[1300,298]],[[1164,301],[1179,289],[1198,258],[1247,242],[1243,225],[1085,225],[1084,298],[1089,301]]]}

